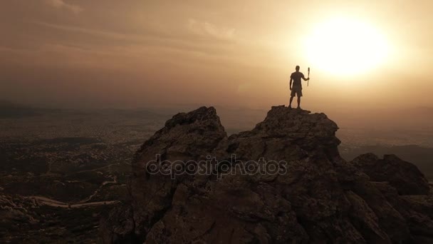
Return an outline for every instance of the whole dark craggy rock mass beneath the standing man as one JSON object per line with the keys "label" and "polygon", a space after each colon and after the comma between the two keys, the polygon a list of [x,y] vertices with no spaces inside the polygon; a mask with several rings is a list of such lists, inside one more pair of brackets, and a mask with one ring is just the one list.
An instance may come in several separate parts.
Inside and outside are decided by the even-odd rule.
{"label": "whole dark craggy rock mass beneath the standing man", "polygon": [[212,107],[179,113],[137,151],[130,203],[101,220],[100,240],[433,241],[422,173],[395,156],[344,161],[337,130],[323,113],[276,106],[228,137]]}

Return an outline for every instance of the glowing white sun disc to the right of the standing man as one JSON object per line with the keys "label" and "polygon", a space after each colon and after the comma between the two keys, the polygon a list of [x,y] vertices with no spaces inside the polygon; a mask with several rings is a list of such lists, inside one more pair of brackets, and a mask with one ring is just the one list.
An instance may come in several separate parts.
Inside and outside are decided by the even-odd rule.
{"label": "glowing white sun disc to the right of the standing man", "polygon": [[305,41],[308,62],[335,75],[357,75],[384,63],[388,47],[373,26],[353,19],[319,24]]}

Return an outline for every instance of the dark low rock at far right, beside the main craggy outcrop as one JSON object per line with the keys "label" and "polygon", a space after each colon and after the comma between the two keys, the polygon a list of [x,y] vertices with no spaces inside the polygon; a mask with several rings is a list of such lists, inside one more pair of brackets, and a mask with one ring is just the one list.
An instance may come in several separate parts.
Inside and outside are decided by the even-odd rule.
{"label": "dark low rock at far right, beside the main craggy outcrop", "polygon": [[351,163],[370,176],[372,181],[389,182],[400,195],[429,194],[429,182],[417,166],[402,161],[395,155],[385,155],[380,159],[367,153],[353,159]]}

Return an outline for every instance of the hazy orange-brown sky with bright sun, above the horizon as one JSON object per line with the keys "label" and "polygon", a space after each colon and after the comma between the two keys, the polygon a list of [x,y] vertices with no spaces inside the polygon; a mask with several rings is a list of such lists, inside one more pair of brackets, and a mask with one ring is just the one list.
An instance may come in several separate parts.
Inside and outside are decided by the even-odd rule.
{"label": "hazy orange-brown sky with bright sun, above the horizon", "polygon": [[0,100],[36,106],[433,106],[433,1],[11,0]]}

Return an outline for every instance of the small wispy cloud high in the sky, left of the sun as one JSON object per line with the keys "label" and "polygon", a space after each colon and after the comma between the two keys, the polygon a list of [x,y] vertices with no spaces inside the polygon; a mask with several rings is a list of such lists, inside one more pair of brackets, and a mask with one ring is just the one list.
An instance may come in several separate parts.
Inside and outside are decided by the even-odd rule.
{"label": "small wispy cloud high in the sky, left of the sun", "polygon": [[221,28],[207,21],[197,21],[196,19],[188,20],[188,29],[200,36],[212,36],[224,40],[234,39],[236,31],[234,28]]}

